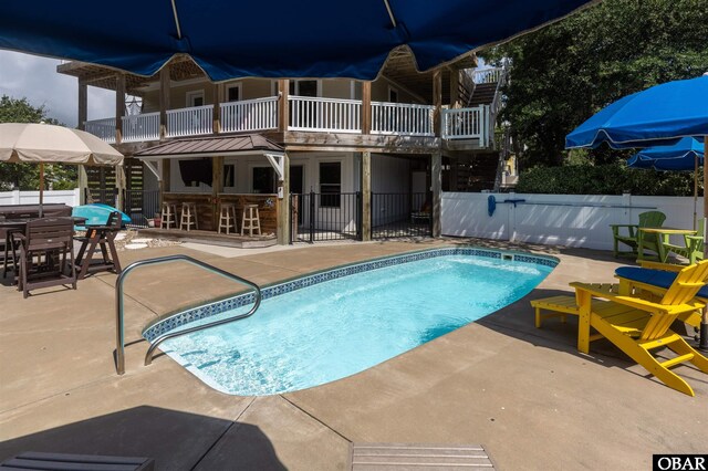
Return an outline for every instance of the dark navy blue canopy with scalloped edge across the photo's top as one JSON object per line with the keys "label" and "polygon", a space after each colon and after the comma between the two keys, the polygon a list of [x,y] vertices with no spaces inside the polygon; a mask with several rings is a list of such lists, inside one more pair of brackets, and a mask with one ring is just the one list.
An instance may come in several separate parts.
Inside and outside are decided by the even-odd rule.
{"label": "dark navy blue canopy with scalloped edge across the photo's top", "polygon": [[426,71],[586,3],[592,1],[8,0],[0,2],[0,48],[146,76],[186,53],[214,81],[373,80],[396,46],[408,45]]}

